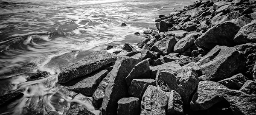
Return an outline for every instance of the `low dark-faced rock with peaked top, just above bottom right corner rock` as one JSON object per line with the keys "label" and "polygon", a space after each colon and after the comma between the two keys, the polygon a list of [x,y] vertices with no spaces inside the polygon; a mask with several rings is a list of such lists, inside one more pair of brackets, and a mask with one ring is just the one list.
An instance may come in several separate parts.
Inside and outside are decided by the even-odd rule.
{"label": "low dark-faced rock with peaked top, just above bottom right corner rock", "polygon": [[247,77],[239,73],[239,74],[236,74],[235,76],[232,76],[231,78],[218,81],[218,83],[226,86],[231,90],[239,90],[247,80],[249,80],[247,79]]}

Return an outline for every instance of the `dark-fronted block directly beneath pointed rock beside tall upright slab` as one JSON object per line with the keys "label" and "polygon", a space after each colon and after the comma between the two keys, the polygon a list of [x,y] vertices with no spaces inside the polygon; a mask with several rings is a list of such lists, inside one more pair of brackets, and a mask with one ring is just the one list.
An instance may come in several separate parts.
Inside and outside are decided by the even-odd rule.
{"label": "dark-fronted block directly beneath pointed rock beside tall upright slab", "polygon": [[156,81],[154,79],[133,79],[129,87],[129,94],[142,99],[149,85],[156,86]]}

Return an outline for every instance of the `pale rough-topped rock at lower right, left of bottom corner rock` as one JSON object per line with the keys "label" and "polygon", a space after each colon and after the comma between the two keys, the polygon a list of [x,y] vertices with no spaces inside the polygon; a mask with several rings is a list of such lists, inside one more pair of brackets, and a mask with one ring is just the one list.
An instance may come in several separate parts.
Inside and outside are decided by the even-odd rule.
{"label": "pale rough-topped rock at lower right, left of bottom corner rock", "polygon": [[214,81],[200,81],[198,90],[190,102],[190,109],[194,111],[205,110],[222,101],[223,99],[217,95],[218,88],[227,87]]}

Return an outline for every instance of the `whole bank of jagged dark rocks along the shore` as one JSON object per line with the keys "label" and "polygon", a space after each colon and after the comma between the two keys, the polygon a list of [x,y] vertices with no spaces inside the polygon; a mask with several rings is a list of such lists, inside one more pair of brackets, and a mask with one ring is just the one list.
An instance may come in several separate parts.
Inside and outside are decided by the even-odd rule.
{"label": "whole bank of jagged dark rocks along the shore", "polygon": [[[57,84],[102,115],[256,115],[255,0],[201,0],[155,22],[158,31],[141,33],[142,50],[90,53]],[[0,106],[22,95],[3,95]],[[95,114],[72,102],[66,115]]]}

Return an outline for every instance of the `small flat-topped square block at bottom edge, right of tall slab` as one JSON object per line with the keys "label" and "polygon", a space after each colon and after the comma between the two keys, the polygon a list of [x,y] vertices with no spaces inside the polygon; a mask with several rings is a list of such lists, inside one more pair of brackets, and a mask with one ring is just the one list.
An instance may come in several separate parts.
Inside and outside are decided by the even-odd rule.
{"label": "small flat-topped square block at bottom edge, right of tall slab", "polygon": [[117,115],[140,115],[139,98],[121,98],[117,103]]}

